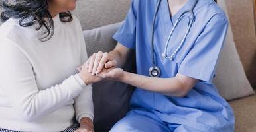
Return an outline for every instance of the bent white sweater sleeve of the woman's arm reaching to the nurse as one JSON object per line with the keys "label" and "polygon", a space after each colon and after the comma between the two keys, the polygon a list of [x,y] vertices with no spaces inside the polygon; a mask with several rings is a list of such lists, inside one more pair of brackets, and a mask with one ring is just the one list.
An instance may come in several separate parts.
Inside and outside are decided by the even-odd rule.
{"label": "bent white sweater sleeve of the woman's arm reaching to the nurse", "polygon": [[80,94],[78,75],[72,75],[61,84],[38,90],[33,67],[19,45],[5,39],[0,42],[0,82],[11,106],[25,121],[34,121],[50,114]]}

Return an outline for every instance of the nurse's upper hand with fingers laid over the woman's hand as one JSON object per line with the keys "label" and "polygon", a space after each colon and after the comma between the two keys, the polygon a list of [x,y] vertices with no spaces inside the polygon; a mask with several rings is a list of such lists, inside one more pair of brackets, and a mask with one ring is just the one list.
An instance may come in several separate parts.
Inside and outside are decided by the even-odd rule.
{"label": "nurse's upper hand with fingers laid over the woman's hand", "polygon": [[99,51],[94,53],[84,64],[84,67],[88,69],[89,73],[96,75],[102,71],[102,69],[109,69],[117,66],[117,61],[113,57],[105,52]]}

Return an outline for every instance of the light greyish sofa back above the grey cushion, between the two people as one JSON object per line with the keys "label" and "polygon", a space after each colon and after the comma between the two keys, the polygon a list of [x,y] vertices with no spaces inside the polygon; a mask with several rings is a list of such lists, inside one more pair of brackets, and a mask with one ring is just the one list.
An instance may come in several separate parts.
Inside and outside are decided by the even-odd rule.
{"label": "light greyish sofa back above the grey cushion, between the two people", "polygon": [[129,7],[130,0],[78,0],[73,13],[83,30],[89,30],[123,21]]}

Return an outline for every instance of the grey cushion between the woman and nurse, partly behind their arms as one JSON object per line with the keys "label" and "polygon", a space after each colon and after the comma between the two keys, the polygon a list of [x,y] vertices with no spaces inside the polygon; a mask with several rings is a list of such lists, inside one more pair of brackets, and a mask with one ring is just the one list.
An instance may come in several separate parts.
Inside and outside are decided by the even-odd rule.
{"label": "grey cushion between the woman and nurse, partly behind their arms", "polygon": [[[117,44],[112,36],[121,23],[84,31],[88,56],[97,51],[111,51]],[[135,71],[135,55],[129,57],[125,71]],[[129,110],[133,87],[115,81],[101,81],[93,84],[94,126],[96,131],[108,131]]]}

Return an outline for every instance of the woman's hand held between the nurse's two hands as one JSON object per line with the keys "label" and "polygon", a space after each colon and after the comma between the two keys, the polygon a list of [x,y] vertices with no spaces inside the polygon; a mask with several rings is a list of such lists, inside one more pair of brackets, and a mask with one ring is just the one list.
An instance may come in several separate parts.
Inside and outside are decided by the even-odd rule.
{"label": "woman's hand held between the nurse's two hands", "polygon": [[78,71],[78,75],[81,77],[86,85],[93,84],[102,80],[101,77],[97,77],[89,73],[88,69],[86,69],[85,67],[79,67]]}

